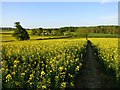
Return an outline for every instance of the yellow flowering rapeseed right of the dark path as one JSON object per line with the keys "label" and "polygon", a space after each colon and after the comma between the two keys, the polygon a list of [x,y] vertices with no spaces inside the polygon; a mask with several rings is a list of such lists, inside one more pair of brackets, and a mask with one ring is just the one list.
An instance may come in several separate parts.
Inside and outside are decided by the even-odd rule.
{"label": "yellow flowering rapeseed right of the dark path", "polygon": [[[103,60],[108,72],[120,78],[120,60],[118,58],[118,38],[90,39],[96,46],[98,57]],[[101,60],[101,61],[102,61]]]}

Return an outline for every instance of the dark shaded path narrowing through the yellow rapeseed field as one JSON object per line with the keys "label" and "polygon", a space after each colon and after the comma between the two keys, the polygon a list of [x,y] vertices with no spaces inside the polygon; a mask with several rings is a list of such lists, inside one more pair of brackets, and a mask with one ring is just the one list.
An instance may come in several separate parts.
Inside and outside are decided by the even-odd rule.
{"label": "dark shaded path narrowing through the yellow rapeseed field", "polygon": [[108,76],[100,62],[96,60],[91,43],[88,43],[87,54],[84,60],[81,75],[75,81],[75,88],[114,88],[114,82]]}

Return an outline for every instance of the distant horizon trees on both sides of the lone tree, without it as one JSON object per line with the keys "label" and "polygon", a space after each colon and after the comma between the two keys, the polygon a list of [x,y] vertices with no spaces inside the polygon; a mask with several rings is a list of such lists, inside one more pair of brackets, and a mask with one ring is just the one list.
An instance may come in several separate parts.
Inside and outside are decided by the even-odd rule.
{"label": "distant horizon trees on both sides of the lone tree, without it", "polygon": [[[68,32],[77,32],[87,30],[90,33],[102,33],[102,34],[118,34],[120,26],[91,26],[91,27],[60,27],[60,28],[33,28],[26,29],[31,30],[31,35],[64,35]],[[1,27],[2,31],[15,31],[16,28]]]}

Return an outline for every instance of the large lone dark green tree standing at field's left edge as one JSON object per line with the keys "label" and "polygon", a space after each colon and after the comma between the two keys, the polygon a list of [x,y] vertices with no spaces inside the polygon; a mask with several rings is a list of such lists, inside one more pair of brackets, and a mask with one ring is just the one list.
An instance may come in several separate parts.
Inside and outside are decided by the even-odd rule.
{"label": "large lone dark green tree standing at field's left edge", "polygon": [[18,40],[28,40],[30,39],[29,34],[27,31],[20,25],[20,22],[15,22],[15,31],[13,33],[13,37]]}

